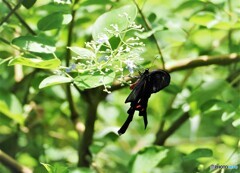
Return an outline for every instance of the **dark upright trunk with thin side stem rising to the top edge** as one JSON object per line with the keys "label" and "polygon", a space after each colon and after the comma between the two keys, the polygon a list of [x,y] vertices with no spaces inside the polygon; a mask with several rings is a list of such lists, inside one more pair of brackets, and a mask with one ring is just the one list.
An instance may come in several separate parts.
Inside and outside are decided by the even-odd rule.
{"label": "dark upright trunk with thin side stem rising to the top edge", "polygon": [[[79,0],[75,0],[73,4],[72,10],[72,21],[69,24],[68,29],[68,40],[67,47],[72,45],[73,39],[73,29],[75,24],[75,15],[76,9],[75,5],[79,2]],[[66,66],[70,65],[71,60],[71,51],[70,49],[66,50]],[[78,126],[80,122],[78,121],[78,113],[76,111],[72,92],[71,85],[67,85],[66,94],[69,103],[69,108],[71,112],[71,120],[75,125],[75,128],[79,134],[79,148],[78,148],[78,166],[89,167],[91,164],[91,153],[89,150],[90,145],[92,144],[93,134],[94,134],[94,124],[97,119],[97,107],[99,102],[105,98],[106,94],[103,94],[101,87],[89,89],[85,91],[80,91],[79,88],[74,84],[75,88],[81,93],[81,96],[87,103],[87,112],[86,112],[86,120],[85,120],[85,130],[83,128],[79,129]],[[99,91],[101,89],[101,91]],[[104,97],[102,97],[104,96]]]}

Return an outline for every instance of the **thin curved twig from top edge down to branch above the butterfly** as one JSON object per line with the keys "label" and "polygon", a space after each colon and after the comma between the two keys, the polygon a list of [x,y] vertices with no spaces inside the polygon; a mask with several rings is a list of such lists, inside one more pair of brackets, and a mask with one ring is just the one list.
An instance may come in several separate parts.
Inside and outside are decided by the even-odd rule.
{"label": "thin curved twig from top edge down to branch above the butterfly", "polygon": [[[148,22],[147,18],[145,17],[145,15],[143,14],[142,12],[142,9],[139,7],[139,5],[137,4],[137,2],[135,0],[133,0],[134,4],[136,5],[137,9],[138,9],[138,12],[139,14],[141,15],[142,19],[143,19],[143,22],[145,23],[146,25],[146,28],[147,30],[151,31],[152,30],[152,26],[151,24]],[[160,45],[157,41],[157,38],[154,34],[151,35],[153,41],[155,42],[156,46],[157,46],[157,50],[158,50],[158,53],[159,55],[161,56],[161,61],[162,61],[162,69],[165,70],[165,61],[164,61],[164,57],[163,57],[163,54],[162,54],[162,50],[160,48]]]}

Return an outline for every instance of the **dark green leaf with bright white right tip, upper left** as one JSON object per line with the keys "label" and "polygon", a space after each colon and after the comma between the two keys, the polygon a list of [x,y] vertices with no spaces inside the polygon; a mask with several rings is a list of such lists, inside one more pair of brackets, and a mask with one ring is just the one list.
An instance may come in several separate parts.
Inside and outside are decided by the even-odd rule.
{"label": "dark green leaf with bright white right tip, upper left", "polygon": [[72,15],[56,12],[39,20],[37,26],[39,30],[47,31],[60,28],[62,25],[67,25],[71,20]]}

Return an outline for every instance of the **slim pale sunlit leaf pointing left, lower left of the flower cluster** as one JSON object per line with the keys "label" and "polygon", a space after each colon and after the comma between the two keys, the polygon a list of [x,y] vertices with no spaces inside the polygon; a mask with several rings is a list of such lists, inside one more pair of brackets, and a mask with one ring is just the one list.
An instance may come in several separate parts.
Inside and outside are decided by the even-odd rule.
{"label": "slim pale sunlit leaf pointing left, lower left of the flower cluster", "polygon": [[39,85],[39,88],[45,88],[48,86],[52,85],[59,85],[63,83],[70,83],[72,82],[71,78],[65,77],[65,76],[58,76],[58,75],[53,75],[45,78]]}

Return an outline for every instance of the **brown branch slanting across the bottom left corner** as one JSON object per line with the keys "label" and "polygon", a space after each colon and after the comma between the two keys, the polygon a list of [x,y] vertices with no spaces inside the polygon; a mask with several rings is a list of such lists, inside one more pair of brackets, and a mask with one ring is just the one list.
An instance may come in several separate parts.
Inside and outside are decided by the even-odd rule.
{"label": "brown branch slanting across the bottom left corner", "polygon": [[7,166],[12,172],[16,173],[32,173],[33,171],[26,167],[20,165],[16,160],[7,155],[5,152],[0,150],[0,162]]}

